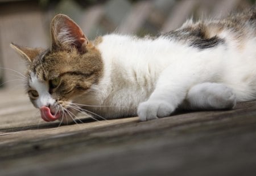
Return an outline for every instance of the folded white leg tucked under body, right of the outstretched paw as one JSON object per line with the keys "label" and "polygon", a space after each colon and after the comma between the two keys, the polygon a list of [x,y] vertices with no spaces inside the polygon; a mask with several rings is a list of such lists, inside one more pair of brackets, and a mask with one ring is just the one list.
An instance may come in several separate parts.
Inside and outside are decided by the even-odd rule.
{"label": "folded white leg tucked under body, right of the outstretched paw", "polygon": [[189,89],[186,103],[188,109],[232,109],[236,95],[232,89],[220,83],[201,83]]}

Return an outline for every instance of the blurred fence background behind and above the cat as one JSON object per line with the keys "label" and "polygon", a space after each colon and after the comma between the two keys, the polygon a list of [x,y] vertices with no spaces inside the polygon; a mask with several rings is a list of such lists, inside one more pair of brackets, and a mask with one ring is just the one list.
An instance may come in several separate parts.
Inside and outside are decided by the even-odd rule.
{"label": "blurred fence background behind and above the cat", "polygon": [[26,69],[10,43],[47,48],[49,23],[58,13],[70,16],[93,40],[110,32],[156,35],[179,28],[191,16],[220,18],[254,4],[254,0],[0,0],[0,88],[22,83],[16,72],[7,69],[22,73]]}

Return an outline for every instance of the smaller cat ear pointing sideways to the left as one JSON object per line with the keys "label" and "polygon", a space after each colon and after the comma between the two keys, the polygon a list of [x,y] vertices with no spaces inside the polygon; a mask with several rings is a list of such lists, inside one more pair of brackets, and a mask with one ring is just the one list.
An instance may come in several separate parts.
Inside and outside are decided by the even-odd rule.
{"label": "smaller cat ear pointing sideways to the left", "polygon": [[14,43],[11,43],[10,46],[28,63],[32,62],[42,52],[42,49],[39,48],[28,48]]}

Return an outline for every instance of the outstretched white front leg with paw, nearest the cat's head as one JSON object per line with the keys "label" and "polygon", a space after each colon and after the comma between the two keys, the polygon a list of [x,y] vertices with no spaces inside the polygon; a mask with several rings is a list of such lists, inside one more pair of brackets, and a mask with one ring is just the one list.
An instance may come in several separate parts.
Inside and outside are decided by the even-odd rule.
{"label": "outstretched white front leg with paw, nearest the cat's head", "polygon": [[163,72],[154,92],[147,101],[139,104],[137,113],[141,121],[167,117],[184,101],[192,79],[174,74],[175,71]]}

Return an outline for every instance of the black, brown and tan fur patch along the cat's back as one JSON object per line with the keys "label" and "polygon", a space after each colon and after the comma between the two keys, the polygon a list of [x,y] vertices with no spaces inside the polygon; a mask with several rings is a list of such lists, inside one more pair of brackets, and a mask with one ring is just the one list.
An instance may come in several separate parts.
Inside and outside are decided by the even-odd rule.
{"label": "black, brown and tan fur patch along the cat's back", "polygon": [[[225,19],[188,20],[181,28],[164,33],[177,42],[197,49],[214,48],[221,44],[246,44],[256,37],[255,7],[234,12]],[[242,48],[241,45],[237,46]]]}

